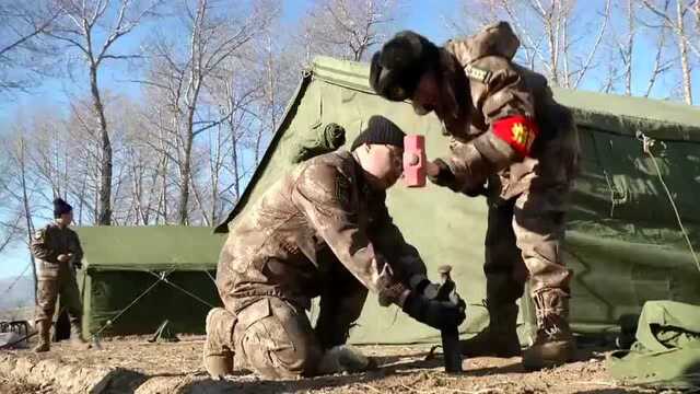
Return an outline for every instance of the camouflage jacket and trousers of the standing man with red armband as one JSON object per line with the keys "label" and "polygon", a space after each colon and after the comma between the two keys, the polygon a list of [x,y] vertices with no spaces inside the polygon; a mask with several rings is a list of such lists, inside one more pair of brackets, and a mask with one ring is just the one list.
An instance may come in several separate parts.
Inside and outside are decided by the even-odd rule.
{"label": "camouflage jacket and trousers of the standing man with red armband", "polygon": [[506,23],[445,45],[465,68],[474,107],[470,123],[446,125],[453,155],[444,161],[455,174],[455,190],[488,181],[485,273],[487,297],[495,303],[514,302],[528,277],[536,299],[547,291],[555,298],[570,293],[560,242],[578,132],[546,79],[511,61],[518,45]]}

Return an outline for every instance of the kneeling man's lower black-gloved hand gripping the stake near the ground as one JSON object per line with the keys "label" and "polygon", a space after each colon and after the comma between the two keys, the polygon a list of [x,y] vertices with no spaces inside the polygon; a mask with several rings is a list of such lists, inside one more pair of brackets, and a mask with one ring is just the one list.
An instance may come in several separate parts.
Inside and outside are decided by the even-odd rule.
{"label": "kneeling man's lower black-gloved hand gripping the stake near the ground", "polygon": [[406,298],[402,310],[409,316],[436,329],[458,326],[466,318],[464,306],[459,303],[429,300],[415,291]]}

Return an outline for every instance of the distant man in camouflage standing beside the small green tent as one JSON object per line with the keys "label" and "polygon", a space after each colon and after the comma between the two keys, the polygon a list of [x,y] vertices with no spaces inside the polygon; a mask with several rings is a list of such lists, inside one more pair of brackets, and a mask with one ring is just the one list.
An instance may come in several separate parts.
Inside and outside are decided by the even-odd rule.
{"label": "distant man in camouflage standing beside the small green tent", "polygon": [[68,227],[73,221],[72,207],[60,198],[54,200],[55,222],[37,230],[32,240],[32,254],[39,265],[36,294],[36,327],[39,343],[34,351],[50,349],[50,329],[60,296],[70,320],[70,336],[75,345],[85,347],[82,338],[82,305],[75,281],[75,268],[80,268],[83,250],[78,234]]}

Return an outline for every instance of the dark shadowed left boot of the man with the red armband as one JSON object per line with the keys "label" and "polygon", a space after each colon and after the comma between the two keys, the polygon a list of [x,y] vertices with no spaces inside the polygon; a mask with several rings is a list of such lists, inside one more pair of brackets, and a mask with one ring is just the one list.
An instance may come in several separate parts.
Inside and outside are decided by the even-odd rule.
{"label": "dark shadowed left boot of the man with the red armband", "polygon": [[486,301],[489,310],[489,326],[476,336],[462,340],[462,354],[467,357],[494,356],[515,357],[521,355],[517,339],[517,305],[495,304]]}

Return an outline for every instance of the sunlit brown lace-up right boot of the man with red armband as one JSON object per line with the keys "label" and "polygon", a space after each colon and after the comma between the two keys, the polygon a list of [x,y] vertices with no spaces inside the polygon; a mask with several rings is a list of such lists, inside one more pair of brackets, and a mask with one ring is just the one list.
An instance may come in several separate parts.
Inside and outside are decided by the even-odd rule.
{"label": "sunlit brown lace-up right boot of the man with red armband", "polygon": [[549,289],[535,296],[537,335],[523,352],[523,367],[528,371],[561,366],[573,359],[576,345],[569,327],[567,293]]}

